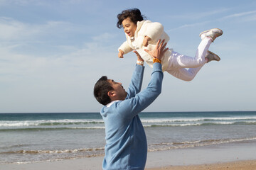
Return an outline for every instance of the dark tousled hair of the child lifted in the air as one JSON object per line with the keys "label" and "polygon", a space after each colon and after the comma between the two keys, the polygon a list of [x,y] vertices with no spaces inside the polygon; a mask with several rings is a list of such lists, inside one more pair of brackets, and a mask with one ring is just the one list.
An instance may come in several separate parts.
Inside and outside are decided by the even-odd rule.
{"label": "dark tousled hair of the child lifted in the air", "polygon": [[126,18],[130,18],[133,23],[137,24],[138,21],[143,21],[146,17],[142,15],[138,8],[124,10],[117,15],[117,28],[123,28],[122,21]]}

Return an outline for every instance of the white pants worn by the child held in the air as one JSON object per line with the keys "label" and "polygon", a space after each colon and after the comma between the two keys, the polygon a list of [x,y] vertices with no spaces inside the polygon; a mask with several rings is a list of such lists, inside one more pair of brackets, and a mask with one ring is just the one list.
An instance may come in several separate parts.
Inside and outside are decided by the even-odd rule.
{"label": "white pants worn by the child held in the air", "polygon": [[166,72],[184,81],[193,80],[207,62],[205,57],[211,42],[210,38],[204,38],[198,45],[195,57],[188,57],[178,52],[172,52]]}

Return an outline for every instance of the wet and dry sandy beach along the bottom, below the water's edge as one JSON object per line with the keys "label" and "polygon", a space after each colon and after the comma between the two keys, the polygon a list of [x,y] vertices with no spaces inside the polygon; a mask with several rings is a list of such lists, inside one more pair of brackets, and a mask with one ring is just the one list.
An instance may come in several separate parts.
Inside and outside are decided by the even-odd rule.
{"label": "wet and dry sandy beach along the bottom, below the water's edge", "polygon": [[[149,152],[147,170],[156,169],[256,169],[255,142],[233,143],[211,147],[171,149]],[[1,170],[99,170],[103,157],[66,159],[56,162],[38,162],[32,164],[3,164]]]}

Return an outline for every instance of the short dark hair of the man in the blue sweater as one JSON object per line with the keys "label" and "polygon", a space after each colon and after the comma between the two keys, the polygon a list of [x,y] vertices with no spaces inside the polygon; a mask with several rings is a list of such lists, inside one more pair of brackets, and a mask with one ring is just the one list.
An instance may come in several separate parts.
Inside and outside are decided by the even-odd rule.
{"label": "short dark hair of the man in the blue sweater", "polygon": [[110,96],[107,95],[109,91],[113,90],[106,76],[102,76],[95,84],[93,94],[96,100],[102,105],[107,105],[111,102]]}

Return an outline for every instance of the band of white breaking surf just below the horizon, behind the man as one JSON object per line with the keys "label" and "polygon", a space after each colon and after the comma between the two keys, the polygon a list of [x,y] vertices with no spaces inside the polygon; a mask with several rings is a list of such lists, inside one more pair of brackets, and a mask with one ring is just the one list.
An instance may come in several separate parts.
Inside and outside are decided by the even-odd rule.
{"label": "band of white breaking surf just below the horizon, behind the man", "polygon": [[[256,116],[201,118],[142,118],[145,128],[203,125],[256,125]],[[97,127],[96,127],[97,126]],[[0,121],[2,130],[64,130],[104,128],[102,119]]]}

